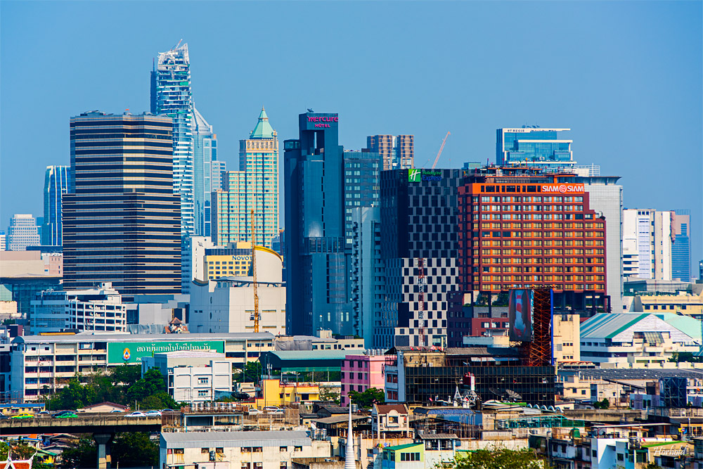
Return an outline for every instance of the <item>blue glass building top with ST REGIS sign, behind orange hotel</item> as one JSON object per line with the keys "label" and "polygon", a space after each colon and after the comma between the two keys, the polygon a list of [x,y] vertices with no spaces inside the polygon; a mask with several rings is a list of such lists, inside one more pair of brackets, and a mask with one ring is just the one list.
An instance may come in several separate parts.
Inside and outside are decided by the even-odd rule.
{"label": "blue glass building top with ST REGIS sign, behind orange hotel", "polygon": [[496,164],[498,166],[531,165],[557,168],[576,165],[571,145],[559,133],[571,129],[541,129],[523,126],[520,129],[496,131]]}

